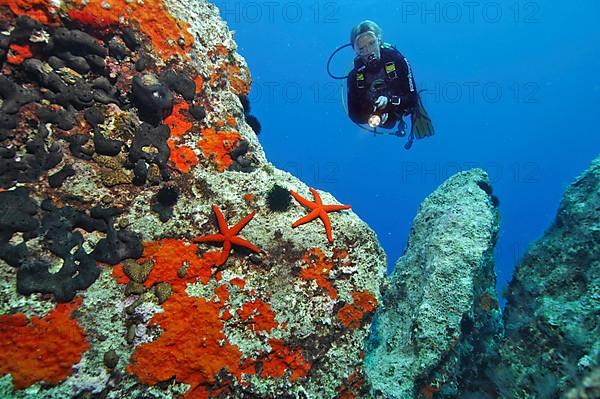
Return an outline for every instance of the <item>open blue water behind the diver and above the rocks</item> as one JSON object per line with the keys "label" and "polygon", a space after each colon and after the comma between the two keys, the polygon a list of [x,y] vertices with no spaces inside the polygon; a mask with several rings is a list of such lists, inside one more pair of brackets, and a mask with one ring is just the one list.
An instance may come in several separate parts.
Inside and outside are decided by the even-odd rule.
{"label": "open blue water behind the diver and above the rocks", "polygon": [[[252,113],[276,166],[331,192],[377,233],[388,269],[421,201],[483,167],[500,198],[498,288],[600,153],[600,2],[221,1],[253,75]],[[376,21],[409,59],[436,136],[374,136],[347,118],[330,53]],[[345,49],[333,71],[353,58]],[[335,236],[335,232],[334,232]]]}

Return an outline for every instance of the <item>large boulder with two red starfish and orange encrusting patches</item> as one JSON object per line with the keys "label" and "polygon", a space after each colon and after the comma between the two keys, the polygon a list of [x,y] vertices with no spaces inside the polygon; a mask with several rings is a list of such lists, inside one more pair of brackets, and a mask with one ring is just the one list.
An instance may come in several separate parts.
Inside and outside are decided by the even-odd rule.
{"label": "large boulder with two red starfish and orange encrusting patches", "polygon": [[362,397],[385,254],[267,161],[216,7],[0,15],[0,396]]}

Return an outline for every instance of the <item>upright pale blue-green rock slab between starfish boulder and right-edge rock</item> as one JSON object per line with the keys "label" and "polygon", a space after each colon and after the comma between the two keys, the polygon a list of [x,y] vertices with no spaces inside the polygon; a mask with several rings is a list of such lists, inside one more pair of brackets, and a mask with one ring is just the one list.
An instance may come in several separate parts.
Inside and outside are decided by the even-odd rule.
{"label": "upright pale blue-green rock slab between starfish boulder and right-edge rock", "polygon": [[420,206],[367,345],[375,397],[460,397],[465,375],[485,382],[479,369],[502,324],[492,253],[499,216],[482,182],[480,169],[458,173]]}

